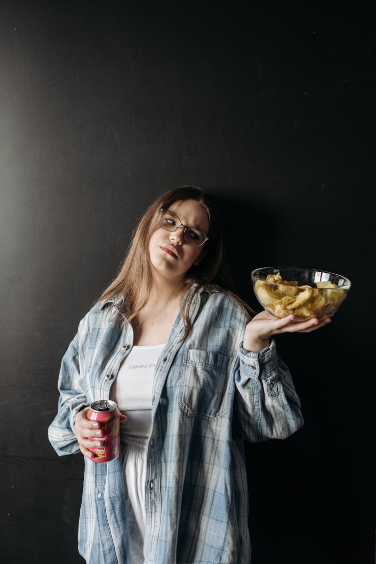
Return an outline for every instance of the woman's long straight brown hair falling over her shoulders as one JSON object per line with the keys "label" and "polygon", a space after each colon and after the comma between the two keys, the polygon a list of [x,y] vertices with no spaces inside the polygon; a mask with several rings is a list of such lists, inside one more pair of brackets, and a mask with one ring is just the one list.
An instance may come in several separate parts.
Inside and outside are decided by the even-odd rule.
{"label": "woman's long straight brown hair falling over her shoulders", "polygon": [[126,257],[120,266],[115,279],[101,294],[98,302],[108,301],[111,298],[122,297],[123,303],[119,306],[115,320],[122,315],[128,321],[145,306],[153,284],[149,260],[149,241],[151,234],[158,225],[158,216],[161,208],[168,209],[178,200],[195,200],[202,204],[209,218],[209,240],[204,244],[203,258],[199,264],[193,265],[185,276],[186,300],[184,307],[181,302],[181,314],[185,327],[184,338],[190,333],[190,307],[196,293],[201,288],[208,292],[225,292],[234,299],[247,318],[250,318],[252,309],[235,294],[234,280],[229,267],[223,259],[223,235],[220,217],[216,206],[209,202],[204,192],[197,186],[178,186],[159,196],[147,208],[138,220],[133,231]]}

